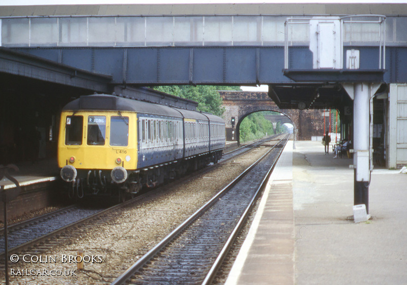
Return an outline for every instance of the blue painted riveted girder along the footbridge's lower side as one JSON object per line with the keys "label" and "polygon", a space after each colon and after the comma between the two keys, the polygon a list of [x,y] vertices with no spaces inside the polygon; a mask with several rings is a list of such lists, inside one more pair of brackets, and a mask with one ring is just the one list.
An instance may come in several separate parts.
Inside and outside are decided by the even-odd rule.
{"label": "blue painted riveted girder along the footbridge's lower side", "polygon": [[[379,49],[360,49],[360,68],[379,68]],[[112,84],[253,85],[293,83],[284,76],[284,48],[250,47],[50,47],[17,50],[74,68],[112,76]],[[344,51],[344,55],[346,52]],[[345,60],[344,60],[345,62]],[[407,82],[407,47],[386,48],[388,83]],[[290,47],[289,69],[312,69],[308,47]]]}

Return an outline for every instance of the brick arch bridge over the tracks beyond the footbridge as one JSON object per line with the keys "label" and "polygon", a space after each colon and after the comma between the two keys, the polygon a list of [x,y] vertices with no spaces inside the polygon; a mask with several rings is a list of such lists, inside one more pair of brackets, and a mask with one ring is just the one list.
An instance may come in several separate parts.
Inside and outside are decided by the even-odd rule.
{"label": "brick arch bridge over the tracks beyond the footbridge", "polygon": [[[321,110],[279,109],[267,92],[218,91],[223,100],[226,122],[226,139],[239,141],[239,126],[245,117],[260,111],[274,111],[285,116],[277,117],[277,123],[290,122],[294,125],[297,140],[311,140],[311,136],[324,134],[324,119]],[[232,128],[231,118],[235,117],[236,126]],[[281,117],[278,118],[278,117]],[[288,119],[287,119],[288,118]]]}

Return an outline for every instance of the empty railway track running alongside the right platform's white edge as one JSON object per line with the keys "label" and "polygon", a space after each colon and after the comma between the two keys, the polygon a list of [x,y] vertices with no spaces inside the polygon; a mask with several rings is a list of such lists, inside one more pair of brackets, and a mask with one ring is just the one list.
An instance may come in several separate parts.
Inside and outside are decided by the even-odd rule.
{"label": "empty railway track running alongside the right platform's white edge", "polygon": [[209,284],[267,182],[283,140],[111,284]]}

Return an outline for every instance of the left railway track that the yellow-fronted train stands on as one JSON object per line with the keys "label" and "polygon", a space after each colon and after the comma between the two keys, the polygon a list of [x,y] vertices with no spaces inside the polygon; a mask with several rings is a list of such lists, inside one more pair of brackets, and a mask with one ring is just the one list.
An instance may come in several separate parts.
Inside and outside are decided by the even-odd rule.
{"label": "left railway track that the yellow-fronted train stands on", "polygon": [[[270,140],[270,138],[268,138],[268,140]],[[251,144],[251,146],[258,146],[261,143],[264,143],[264,141],[267,140],[255,142]],[[231,151],[228,153],[227,158],[224,159],[223,162],[233,157],[239,156],[249,149],[250,147],[243,147],[243,149],[241,148],[241,151]],[[183,183],[184,181],[191,179],[193,176],[201,172],[209,171],[209,169],[210,167],[207,167],[200,171],[196,171],[191,175],[176,180],[174,183]],[[159,189],[160,188],[157,188],[156,190]],[[134,203],[137,200],[142,199],[142,197],[151,194],[152,192],[153,191],[150,191],[144,195],[140,195],[135,199],[129,200],[125,203],[111,206],[108,209],[89,209],[83,208],[79,205],[71,205],[66,208],[36,218],[32,218],[18,224],[11,225],[8,227],[9,253],[27,250],[29,251],[29,253],[36,254],[44,252],[53,246],[52,244],[45,242],[47,240],[50,240],[52,237],[60,236],[69,228],[79,226],[92,219],[101,217],[110,211],[114,211],[115,209]],[[0,229],[0,235],[4,235],[4,228]],[[39,247],[39,244],[42,245]],[[47,244],[49,244],[48,247]],[[4,248],[5,241],[2,237],[0,238],[0,257],[4,256]]]}

